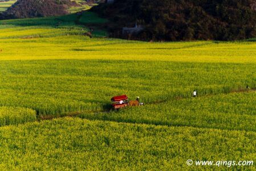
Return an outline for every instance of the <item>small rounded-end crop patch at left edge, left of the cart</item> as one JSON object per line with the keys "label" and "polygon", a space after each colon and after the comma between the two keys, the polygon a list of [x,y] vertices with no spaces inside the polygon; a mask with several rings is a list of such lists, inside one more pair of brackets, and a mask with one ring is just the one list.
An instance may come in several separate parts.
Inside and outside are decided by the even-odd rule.
{"label": "small rounded-end crop patch at left edge, left of the cart", "polygon": [[28,108],[0,107],[0,127],[36,121],[36,112]]}

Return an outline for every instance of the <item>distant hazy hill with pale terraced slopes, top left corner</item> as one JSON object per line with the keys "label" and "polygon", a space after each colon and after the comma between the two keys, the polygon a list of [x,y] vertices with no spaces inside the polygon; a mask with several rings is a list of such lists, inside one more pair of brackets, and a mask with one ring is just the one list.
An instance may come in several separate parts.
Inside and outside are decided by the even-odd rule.
{"label": "distant hazy hill with pale terraced slopes, top left corner", "polygon": [[88,10],[102,2],[104,0],[0,0],[0,19],[59,16]]}

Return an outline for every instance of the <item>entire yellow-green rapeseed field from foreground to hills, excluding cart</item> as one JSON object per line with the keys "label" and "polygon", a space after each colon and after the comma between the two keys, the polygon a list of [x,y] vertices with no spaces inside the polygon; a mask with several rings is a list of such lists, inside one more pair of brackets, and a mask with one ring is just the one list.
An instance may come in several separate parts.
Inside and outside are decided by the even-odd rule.
{"label": "entire yellow-green rapeseed field from foreground to hills, excluding cart", "polygon": [[[106,22],[89,12],[0,21],[1,170],[256,169],[186,164],[256,157],[254,39],[87,36]],[[145,105],[109,111],[123,94]]]}

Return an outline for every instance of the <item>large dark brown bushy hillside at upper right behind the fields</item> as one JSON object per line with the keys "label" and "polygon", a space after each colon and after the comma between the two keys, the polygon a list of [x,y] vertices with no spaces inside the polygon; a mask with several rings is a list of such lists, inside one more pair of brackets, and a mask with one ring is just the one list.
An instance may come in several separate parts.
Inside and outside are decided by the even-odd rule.
{"label": "large dark brown bushy hillside at upper right behind the fields", "polygon": [[150,1],[116,0],[94,11],[109,18],[109,30],[121,37],[122,27],[137,22],[145,27],[140,40],[239,40],[256,36],[256,13],[253,0]]}

